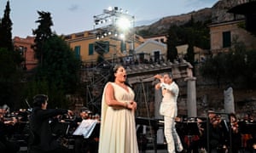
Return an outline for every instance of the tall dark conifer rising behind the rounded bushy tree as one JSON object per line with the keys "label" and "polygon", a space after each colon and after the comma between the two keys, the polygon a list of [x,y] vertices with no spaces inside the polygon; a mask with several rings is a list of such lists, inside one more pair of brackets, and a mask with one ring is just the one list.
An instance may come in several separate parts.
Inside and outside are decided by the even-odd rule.
{"label": "tall dark conifer rising behind the rounded bushy tree", "polygon": [[44,49],[42,46],[44,45],[44,42],[53,35],[50,29],[50,26],[53,26],[53,22],[49,12],[38,11],[38,14],[39,17],[36,23],[38,23],[39,26],[38,29],[32,31],[33,35],[36,35],[34,40],[35,44],[32,48],[36,53],[39,63],[41,63],[44,60]]}

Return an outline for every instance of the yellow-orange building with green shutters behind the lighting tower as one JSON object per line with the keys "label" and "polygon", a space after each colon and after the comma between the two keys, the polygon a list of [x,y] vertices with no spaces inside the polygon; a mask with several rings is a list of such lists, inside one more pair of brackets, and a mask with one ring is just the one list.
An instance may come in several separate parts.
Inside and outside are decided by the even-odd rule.
{"label": "yellow-orange building with green shutters behind the lighting tower", "polygon": [[65,41],[85,65],[90,65],[96,64],[99,59],[114,62],[135,54],[134,48],[143,43],[143,37],[134,35],[125,40],[108,34],[97,37],[93,31],[83,31],[66,35]]}

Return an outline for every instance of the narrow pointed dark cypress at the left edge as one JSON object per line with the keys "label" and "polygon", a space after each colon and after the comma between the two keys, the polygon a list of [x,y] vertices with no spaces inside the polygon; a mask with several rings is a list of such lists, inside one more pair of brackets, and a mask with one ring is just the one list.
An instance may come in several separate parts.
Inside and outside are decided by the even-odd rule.
{"label": "narrow pointed dark cypress at the left edge", "polygon": [[6,3],[6,7],[3,14],[3,19],[0,23],[0,48],[7,48],[9,51],[14,50],[12,41],[12,21],[9,18],[10,8],[9,1]]}

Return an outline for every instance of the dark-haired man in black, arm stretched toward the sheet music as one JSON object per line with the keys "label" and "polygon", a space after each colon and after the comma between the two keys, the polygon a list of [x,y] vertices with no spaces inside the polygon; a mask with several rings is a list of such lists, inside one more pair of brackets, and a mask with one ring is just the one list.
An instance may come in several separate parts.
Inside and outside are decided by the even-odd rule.
{"label": "dark-haired man in black, arm stretched toward the sheet music", "polygon": [[48,96],[38,94],[33,98],[33,110],[30,118],[32,142],[31,153],[67,153],[68,149],[57,142],[51,127],[50,119],[54,116],[68,114],[72,111],[63,109],[47,109]]}

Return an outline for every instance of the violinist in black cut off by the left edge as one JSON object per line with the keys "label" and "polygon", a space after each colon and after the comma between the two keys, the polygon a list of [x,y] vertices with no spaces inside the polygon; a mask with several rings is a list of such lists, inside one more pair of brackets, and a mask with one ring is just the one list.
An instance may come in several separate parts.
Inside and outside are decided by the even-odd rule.
{"label": "violinist in black cut off by the left edge", "polygon": [[11,135],[13,127],[17,120],[12,118],[11,120],[6,120],[5,118],[7,111],[0,108],[0,152],[10,152],[15,153],[20,150],[20,145],[16,142],[9,140],[9,134]]}

